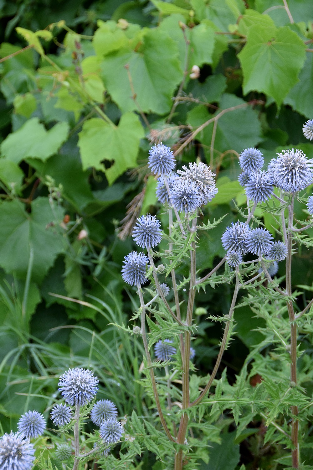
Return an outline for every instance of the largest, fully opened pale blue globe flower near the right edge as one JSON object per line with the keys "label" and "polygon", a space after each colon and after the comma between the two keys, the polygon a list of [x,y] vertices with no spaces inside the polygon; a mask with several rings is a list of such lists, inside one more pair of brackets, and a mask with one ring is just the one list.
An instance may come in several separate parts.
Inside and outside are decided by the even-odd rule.
{"label": "largest, fully opened pale blue globe flower near the right edge", "polygon": [[268,165],[272,180],[277,188],[287,193],[296,193],[313,181],[313,160],[305,157],[302,150],[282,150],[278,158]]}

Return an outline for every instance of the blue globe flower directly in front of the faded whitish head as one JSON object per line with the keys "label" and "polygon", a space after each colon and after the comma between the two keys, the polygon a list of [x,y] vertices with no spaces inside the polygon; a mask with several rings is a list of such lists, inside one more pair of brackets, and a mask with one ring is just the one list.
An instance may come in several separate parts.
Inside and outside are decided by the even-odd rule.
{"label": "blue globe flower directly in front of the faded whitish head", "polygon": [[179,212],[194,212],[201,205],[199,190],[194,181],[177,178],[170,192],[172,204]]}

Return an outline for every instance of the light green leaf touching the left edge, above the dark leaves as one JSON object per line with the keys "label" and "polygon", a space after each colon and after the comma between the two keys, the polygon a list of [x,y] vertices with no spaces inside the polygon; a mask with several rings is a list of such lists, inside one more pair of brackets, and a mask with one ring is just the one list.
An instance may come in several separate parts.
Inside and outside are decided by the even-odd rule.
{"label": "light green leaf touching the left edge, above the dark leaves", "polygon": [[31,118],[1,143],[1,155],[15,163],[27,157],[45,161],[57,153],[68,132],[69,125],[66,122],[59,122],[46,131],[38,118]]}

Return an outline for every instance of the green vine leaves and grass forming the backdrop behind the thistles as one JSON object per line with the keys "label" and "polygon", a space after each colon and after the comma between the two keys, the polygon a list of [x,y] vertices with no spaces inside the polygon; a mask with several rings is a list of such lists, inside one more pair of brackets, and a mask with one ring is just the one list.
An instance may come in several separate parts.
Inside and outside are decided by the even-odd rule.
{"label": "green vine leaves and grass forming the backdrop behind the thistles", "polygon": [[[140,384],[142,345],[111,325],[127,324],[138,306],[120,275],[134,245],[117,229],[139,193],[135,215],[160,208],[146,167],[149,136],[178,149],[188,132],[228,110],[177,157],[178,165],[200,158],[218,173],[219,193],[204,218],[227,216],[199,240],[202,270],[224,256],[221,233],[244,204],[238,153],[258,146],[268,162],[282,147],[297,147],[313,157],[302,134],[313,118],[313,6],[288,5],[292,24],[282,0],[0,1],[0,57],[34,46],[0,63],[1,432],[15,429],[26,409],[51,406],[58,375],[76,365],[95,371],[99,397],[113,399],[120,415],[151,413]],[[200,67],[195,80],[193,65]],[[168,119],[182,80],[183,99]],[[275,234],[269,214],[264,224]],[[294,258],[293,283],[308,286],[310,298],[311,249]],[[222,315],[230,298],[228,286],[208,287],[197,306]],[[304,293],[300,304],[306,300]],[[198,319],[196,367],[206,375],[221,327],[205,314]],[[264,339],[264,320],[249,306],[235,320],[237,336],[223,358],[230,384]],[[252,385],[256,374],[254,364]],[[242,439],[234,430],[229,418],[229,432],[203,451],[201,468],[283,468],[283,448],[263,447],[261,420]],[[313,465],[310,436],[307,442]],[[153,459],[145,450],[141,468],[161,468]]]}

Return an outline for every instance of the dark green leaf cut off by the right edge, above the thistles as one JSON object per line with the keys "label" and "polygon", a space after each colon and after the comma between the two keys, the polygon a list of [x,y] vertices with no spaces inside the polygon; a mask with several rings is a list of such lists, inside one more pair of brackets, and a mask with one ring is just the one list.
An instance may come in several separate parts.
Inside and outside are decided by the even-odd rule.
{"label": "dark green leaf cut off by the right edge, above the thistles", "polygon": [[307,52],[306,61],[299,74],[299,81],[293,86],[284,99],[284,104],[306,118],[313,118],[313,54]]}

